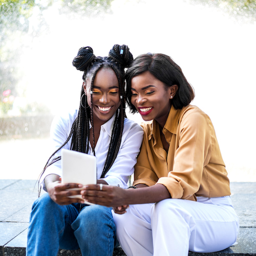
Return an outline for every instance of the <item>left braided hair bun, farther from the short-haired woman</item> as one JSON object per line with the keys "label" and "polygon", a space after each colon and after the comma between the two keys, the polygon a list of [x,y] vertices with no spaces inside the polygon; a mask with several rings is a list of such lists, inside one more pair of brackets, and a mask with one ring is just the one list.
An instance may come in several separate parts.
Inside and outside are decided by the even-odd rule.
{"label": "left braided hair bun, farther from the short-haired woman", "polygon": [[85,71],[94,58],[95,55],[93,54],[93,49],[90,46],[82,47],[79,49],[72,64],[77,70]]}

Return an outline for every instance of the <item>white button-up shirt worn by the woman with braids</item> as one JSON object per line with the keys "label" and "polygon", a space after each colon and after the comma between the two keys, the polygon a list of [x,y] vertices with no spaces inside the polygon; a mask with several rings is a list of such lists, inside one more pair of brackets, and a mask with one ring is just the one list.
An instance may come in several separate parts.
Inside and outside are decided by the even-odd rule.
{"label": "white button-up shirt worn by the woman with braids", "polygon": [[[53,142],[52,152],[56,151],[67,140],[71,131],[72,124],[77,117],[77,114],[78,110],[73,113],[69,113],[66,116],[58,116],[54,118],[51,125],[51,139]],[[106,156],[109,151],[114,120],[115,115],[108,122],[105,122],[100,127],[100,135],[95,146],[95,156],[97,158],[97,179],[99,179],[102,174]],[[142,138],[142,127],[134,121],[125,118],[122,140],[118,155],[115,159],[115,162],[109,169],[109,172],[106,173],[105,177],[103,178],[106,183],[113,186],[120,186],[122,188],[127,187],[129,176],[134,173],[134,165],[137,162],[137,155],[140,151]],[[70,150],[71,140],[72,137],[69,142],[62,148]],[[89,143],[89,145],[90,148],[88,154],[93,155],[91,144]],[[53,158],[60,156],[61,150],[59,150],[53,156]],[[40,182],[44,189],[44,179],[50,174],[56,174],[61,177],[61,160],[50,165],[40,178]]]}

